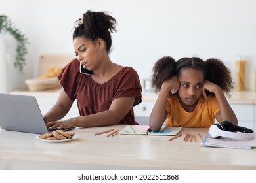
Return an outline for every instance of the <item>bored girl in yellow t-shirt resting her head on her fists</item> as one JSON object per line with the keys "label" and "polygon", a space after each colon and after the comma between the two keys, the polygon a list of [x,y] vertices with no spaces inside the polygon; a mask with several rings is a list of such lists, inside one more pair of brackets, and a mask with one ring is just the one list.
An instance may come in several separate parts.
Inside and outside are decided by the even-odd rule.
{"label": "bored girl in yellow t-shirt resting her head on her fists", "polygon": [[233,88],[230,70],[219,59],[171,57],[159,59],[153,68],[152,86],[158,99],[150,114],[150,129],[168,126],[210,127],[238,120],[223,92]]}

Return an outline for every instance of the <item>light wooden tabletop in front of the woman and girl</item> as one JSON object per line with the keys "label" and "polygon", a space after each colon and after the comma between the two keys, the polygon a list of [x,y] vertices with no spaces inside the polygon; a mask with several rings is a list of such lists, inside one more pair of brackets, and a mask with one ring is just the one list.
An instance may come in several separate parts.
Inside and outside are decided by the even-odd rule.
{"label": "light wooden tabletop in front of the woman and girl", "polygon": [[[36,134],[0,129],[0,169],[256,169],[256,149],[201,146],[208,129],[183,128],[181,137],[94,134],[125,125],[75,129],[78,139],[49,143]],[[198,142],[184,142],[186,133]]]}

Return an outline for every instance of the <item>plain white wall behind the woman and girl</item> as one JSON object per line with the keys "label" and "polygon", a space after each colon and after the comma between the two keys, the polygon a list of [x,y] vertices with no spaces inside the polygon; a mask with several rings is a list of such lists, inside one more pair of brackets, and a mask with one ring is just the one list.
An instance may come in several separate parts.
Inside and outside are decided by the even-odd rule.
{"label": "plain white wall behind the woman and girl", "polygon": [[29,37],[33,75],[40,54],[73,53],[74,21],[91,9],[116,18],[112,61],[134,67],[141,80],[150,78],[154,63],[165,55],[220,58],[235,80],[235,61],[244,55],[247,90],[254,90],[255,7],[253,0],[1,0],[0,14]]}

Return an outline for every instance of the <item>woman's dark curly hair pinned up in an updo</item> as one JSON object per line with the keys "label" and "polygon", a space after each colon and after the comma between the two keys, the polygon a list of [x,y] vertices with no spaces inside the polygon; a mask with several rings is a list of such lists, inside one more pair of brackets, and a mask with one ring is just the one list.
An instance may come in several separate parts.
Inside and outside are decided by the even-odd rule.
{"label": "woman's dark curly hair pinned up in an updo", "polygon": [[[82,20],[81,18],[79,20]],[[78,20],[77,20],[78,21]],[[83,14],[82,24],[75,27],[73,40],[77,37],[85,37],[91,41],[104,39],[106,50],[109,53],[112,46],[110,33],[116,32],[116,19],[105,12],[93,12],[88,10]]]}

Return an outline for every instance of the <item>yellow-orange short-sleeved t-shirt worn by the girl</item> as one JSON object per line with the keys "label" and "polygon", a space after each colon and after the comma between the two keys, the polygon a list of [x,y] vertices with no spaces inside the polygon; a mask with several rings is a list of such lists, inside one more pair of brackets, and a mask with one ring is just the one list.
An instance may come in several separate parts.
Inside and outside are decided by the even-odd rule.
{"label": "yellow-orange short-sleeved t-shirt worn by the girl", "polygon": [[219,104],[213,95],[198,99],[193,112],[186,112],[179,102],[177,94],[169,95],[166,104],[168,126],[210,127],[215,123],[215,114],[219,112]]}

